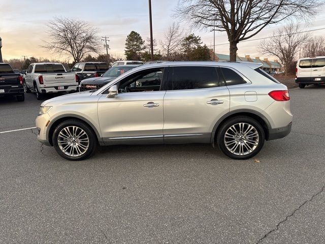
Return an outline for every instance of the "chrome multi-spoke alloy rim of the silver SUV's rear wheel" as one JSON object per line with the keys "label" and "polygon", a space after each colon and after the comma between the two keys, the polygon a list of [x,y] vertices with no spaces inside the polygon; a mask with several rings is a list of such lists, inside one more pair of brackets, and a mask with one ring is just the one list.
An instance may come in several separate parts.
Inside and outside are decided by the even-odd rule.
{"label": "chrome multi-spoke alloy rim of the silver SUV's rear wheel", "polygon": [[224,145],[235,155],[252,153],[258,145],[259,136],[255,127],[247,123],[231,126],[224,134]]}

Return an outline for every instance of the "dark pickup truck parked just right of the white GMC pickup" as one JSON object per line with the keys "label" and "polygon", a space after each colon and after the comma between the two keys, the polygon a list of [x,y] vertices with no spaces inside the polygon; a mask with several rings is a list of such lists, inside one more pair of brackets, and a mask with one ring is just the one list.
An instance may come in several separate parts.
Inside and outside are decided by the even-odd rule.
{"label": "dark pickup truck parked just right of the white GMC pickup", "polygon": [[91,77],[100,77],[107,70],[108,65],[102,62],[78,63],[71,69],[72,72],[78,75],[79,82]]}

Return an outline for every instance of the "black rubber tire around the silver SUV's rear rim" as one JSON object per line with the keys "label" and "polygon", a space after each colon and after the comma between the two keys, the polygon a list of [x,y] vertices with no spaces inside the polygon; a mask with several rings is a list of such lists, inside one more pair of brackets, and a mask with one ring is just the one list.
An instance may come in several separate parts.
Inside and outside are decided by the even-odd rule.
{"label": "black rubber tire around the silver SUV's rear rim", "polygon": [[[235,126],[235,128],[237,128],[238,130],[241,131],[241,129],[239,129],[239,123],[244,123],[246,126],[246,129],[248,128],[248,125],[252,126],[254,129],[250,132],[248,132],[247,135],[245,135],[245,126],[243,127],[243,131],[244,133],[242,133],[242,136],[237,137],[225,137],[226,132],[231,130],[230,128],[232,126]],[[243,124],[241,124],[243,125]],[[258,133],[258,137],[257,134],[256,136],[253,136],[253,131]],[[232,132],[231,132],[232,133]],[[236,133],[232,133],[232,134],[236,134]],[[240,133],[241,134],[241,133]],[[232,135],[233,136],[233,135]],[[253,144],[252,142],[250,142],[250,139],[246,138],[247,137],[251,137],[252,140],[257,140],[258,142]],[[228,140],[228,141],[227,141]],[[249,141],[248,141],[249,140]],[[226,142],[225,142],[226,141]],[[234,142],[232,142],[234,141]],[[248,116],[236,116],[236,117],[232,117],[228,120],[226,120],[219,128],[218,133],[217,133],[217,138],[216,138],[216,142],[220,148],[220,150],[222,151],[222,153],[224,153],[226,156],[232,158],[232,159],[249,159],[251,157],[254,157],[256,154],[258,154],[258,152],[262,149],[263,145],[264,145],[264,141],[265,141],[265,133],[263,130],[263,127],[261,126],[261,124],[258,123],[258,121],[256,121],[255,119],[248,117]],[[241,151],[237,151],[237,149],[239,148],[235,148],[234,149],[234,153],[230,150],[233,148],[228,149],[225,143],[228,143],[229,147],[235,146],[238,143],[243,143],[241,145],[242,146],[242,155],[240,154]],[[233,144],[235,143],[235,144]],[[249,150],[248,147],[246,146],[248,145],[252,150]],[[239,146],[240,147],[240,146]],[[236,151],[235,151],[236,150]],[[246,154],[244,154],[244,150],[246,151]]]}

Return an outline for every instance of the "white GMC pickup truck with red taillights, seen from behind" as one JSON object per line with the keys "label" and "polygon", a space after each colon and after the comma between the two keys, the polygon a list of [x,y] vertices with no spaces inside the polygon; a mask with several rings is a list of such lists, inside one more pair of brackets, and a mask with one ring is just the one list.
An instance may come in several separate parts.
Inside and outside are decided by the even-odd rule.
{"label": "white GMC pickup truck with red taillights, seen from behind", "polygon": [[26,93],[34,92],[38,100],[48,93],[74,92],[79,77],[68,73],[59,63],[35,63],[29,65],[24,74],[23,85]]}

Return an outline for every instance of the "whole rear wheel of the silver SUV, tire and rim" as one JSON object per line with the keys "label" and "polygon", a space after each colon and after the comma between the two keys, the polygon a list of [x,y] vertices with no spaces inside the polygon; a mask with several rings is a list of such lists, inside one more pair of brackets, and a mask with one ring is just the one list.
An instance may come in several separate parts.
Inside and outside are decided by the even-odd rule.
{"label": "whole rear wheel of the silver SUV, tire and rim", "polygon": [[265,133],[255,119],[238,116],[226,120],[217,134],[220,150],[233,159],[249,159],[263,147]]}

